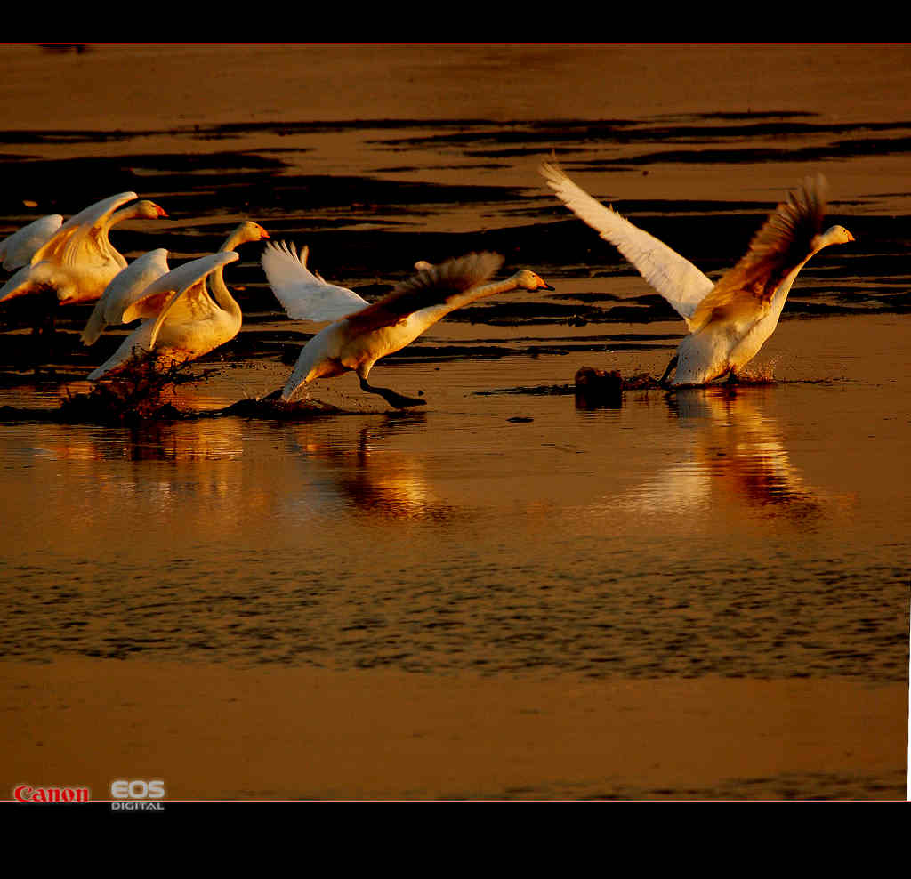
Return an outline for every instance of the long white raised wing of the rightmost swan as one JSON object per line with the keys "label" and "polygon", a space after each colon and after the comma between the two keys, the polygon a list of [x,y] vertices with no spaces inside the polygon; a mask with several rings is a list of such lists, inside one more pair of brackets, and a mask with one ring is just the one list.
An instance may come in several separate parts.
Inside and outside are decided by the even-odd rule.
{"label": "long white raised wing of the rightmost swan", "polygon": [[541,176],[557,198],[579,220],[596,230],[623,254],[640,275],[689,322],[692,312],[708,295],[713,282],[663,241],[634,226],[616,210],[601,204],[567,177],[557,162],[541,164]]}

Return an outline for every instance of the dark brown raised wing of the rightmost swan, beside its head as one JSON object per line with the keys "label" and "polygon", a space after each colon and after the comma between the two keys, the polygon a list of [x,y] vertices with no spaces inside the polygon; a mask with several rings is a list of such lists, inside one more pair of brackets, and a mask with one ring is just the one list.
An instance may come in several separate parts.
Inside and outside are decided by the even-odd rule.
{"label": "dark brown raised wing of the rightmost swan, beside its head", "polygon": [[717,319],[758,319],[782,281],[813,252],[823,228],[826,182],[820,174],[790,192],[753,236],[742,260],[726,271],[691,317],[693,332]]}

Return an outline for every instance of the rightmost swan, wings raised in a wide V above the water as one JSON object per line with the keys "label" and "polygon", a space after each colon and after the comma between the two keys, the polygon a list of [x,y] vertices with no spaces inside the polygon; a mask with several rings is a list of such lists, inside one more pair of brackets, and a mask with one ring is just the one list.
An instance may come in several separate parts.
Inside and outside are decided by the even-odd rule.
{"label": "rightmost swan, wings raised in a wide V above the water", "polygon": [[678,312],[690,334],[661,376],[675,369],[673,385],[705,384],[738,371],[772,335],[794,279],[805,263],[830,244],[855,240],[844,226],[822,231],[826,183],[807,178],[763,223],[750,247],[719,281],[710,281],[666,244],[592,198],[556,161],[540,173],[569,210],[622,253]]}

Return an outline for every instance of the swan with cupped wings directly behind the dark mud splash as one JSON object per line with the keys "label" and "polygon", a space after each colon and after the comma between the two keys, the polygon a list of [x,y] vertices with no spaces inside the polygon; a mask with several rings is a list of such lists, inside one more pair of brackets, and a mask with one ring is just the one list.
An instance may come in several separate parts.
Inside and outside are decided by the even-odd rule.
{"label": "swan with cupped wings directly behind the dark mud splash", "polygon": [[[217,253],[185,262],[161,275],[142,291],[131,308],[149,311],[161,302],[158,313],[131,332],[105,363],[88,374],[90,382],[118,373],[148,353],[156,354],[156,368],[196,360],[230,342],[241,330],[241,306],[224,282],[224,267],[240,259],[229,246],[269,238],[259,223],[247,220],[235,229]],[[211,294],[206,289],[210,280]],[[126,313],[129,313],[129,309]]]}

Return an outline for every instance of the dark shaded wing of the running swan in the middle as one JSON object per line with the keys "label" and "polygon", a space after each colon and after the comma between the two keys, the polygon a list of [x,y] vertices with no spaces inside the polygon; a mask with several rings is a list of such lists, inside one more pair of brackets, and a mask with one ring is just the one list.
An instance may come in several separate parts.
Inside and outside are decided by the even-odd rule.
{"label": "dark shaded wing of the running swan in the middle", "polygon": [[391,293],[360,312],[349,314],[347,320],[352,331],[370,332],[393,326],[422,309],[451,302],[487,281],[503,265],[503,257],[485,251],[468,253],[439,265],[422,264],[427,268],[402,281]]}

